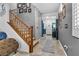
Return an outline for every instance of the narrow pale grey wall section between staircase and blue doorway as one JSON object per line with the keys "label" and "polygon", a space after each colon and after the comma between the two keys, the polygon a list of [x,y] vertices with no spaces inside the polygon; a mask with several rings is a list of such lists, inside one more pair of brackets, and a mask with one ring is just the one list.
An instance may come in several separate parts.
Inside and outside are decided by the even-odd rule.
{"label": "narrow pale grey wall section between staircase and blue doorway", "polygon": [[41,13],[38,9],[35,9],[35,37],[40,39],[41,37]]}

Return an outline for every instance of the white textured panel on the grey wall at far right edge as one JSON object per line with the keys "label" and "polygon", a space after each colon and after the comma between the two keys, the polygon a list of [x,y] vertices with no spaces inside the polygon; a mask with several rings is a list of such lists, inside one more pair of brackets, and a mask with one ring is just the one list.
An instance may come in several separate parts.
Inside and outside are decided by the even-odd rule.
{"label": "white textured panel on the grey wall at far right edge", "polygon": [[79,38],[79,4],[72,4],[72,36]]}

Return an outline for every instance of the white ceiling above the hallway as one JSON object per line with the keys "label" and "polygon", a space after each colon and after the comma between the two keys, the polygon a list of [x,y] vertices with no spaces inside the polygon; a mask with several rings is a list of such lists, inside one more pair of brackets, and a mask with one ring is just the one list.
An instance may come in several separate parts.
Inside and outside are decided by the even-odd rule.
{"label": "white ceiling above the hallway", "polygon": [[59,9],[59,3],[33,3],[33,5],[39,9],[41,13],[57,12]]}

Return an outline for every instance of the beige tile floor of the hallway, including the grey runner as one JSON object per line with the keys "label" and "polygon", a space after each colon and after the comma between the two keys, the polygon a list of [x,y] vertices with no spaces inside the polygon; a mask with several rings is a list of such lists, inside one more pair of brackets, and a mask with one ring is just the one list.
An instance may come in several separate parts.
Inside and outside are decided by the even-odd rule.
{"label": "beige tile floor of the hallway, including the grey runner", "polygon": [[19,51],[14,56],[65,56],[65,53],[58,40],[51,36],[45,36],[34,47],[33,53]]}

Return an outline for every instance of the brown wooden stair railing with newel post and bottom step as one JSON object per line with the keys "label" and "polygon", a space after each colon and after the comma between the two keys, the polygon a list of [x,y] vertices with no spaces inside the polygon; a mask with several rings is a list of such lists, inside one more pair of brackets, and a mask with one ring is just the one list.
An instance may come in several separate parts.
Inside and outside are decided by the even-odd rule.
{"label": "brown wooden stair railing with newel post and bottom step", "polygon": [[16,15],[14,10],[9,11],[9,22],[8,24],[16,31],[16,33],[28,44],[29,53],[33,52],[35,45],[39,43],[33,37],[33,26],[25,24],[19,16]]}

